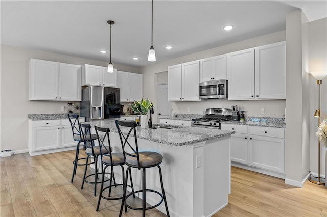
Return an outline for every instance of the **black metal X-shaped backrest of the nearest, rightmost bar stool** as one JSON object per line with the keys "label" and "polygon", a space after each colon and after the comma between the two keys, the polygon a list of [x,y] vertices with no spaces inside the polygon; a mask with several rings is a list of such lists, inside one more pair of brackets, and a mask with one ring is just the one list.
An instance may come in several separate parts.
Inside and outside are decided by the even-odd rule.
{"label": "black metal X-shaped backrest of the nearest, rightmost bar stool", "polygon": [[136,137],[137,123],[132,120],[115,120],[115,123],[122,143],[124,159],[126,159],[126,155],[137,158],[138,169],[141,169]]}

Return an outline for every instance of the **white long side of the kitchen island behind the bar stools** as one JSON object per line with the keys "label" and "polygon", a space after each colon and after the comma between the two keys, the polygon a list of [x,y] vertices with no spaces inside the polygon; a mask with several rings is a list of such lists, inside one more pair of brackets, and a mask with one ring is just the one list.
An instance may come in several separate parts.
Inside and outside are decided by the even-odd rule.
{"label": "white long side of the kitchen island behind the bar stools", "polygon": [[[194,189],[196,189],[196,192],[200,192],[200,194],[203,195],[204,170],[203,167],[195,170],[195,156],[196,154],[201,154],[203,156],[203,148],[202,150],[201,148],[197,148],[195,154],[195,147],[201,147],[205,142],[196,143],[196,145],[201,144],[199,146],[172,146],[143,139],[138,139],[137,141],[139,151],[155,151],[164,157],[160,167],[162,170],[162,178],[164,179],[164,187],[170,215],[203,216],[203,197],[201,203],[199,201],[200,198],[194,198],[194,196],[198,197],[199,195],[199,193],[194,193]],[[113,152],[119,152],[122,150],[118,133],[110,132],[110,143],[113,146]],[[114,173],[116,180],[121,181],[121,171],[118,167],[115,168]],[[134,188],[141,189],[142,171],[132,169],[132,177]],[[156,191],[161,192],[158,168],[148,168],[146,177],[146,188],[155,189]],[[202,182],[202,184],[200,184],[201,186],[196,186],[194,183],[195,180],[197,183]],[[142,198],[141,194],[137,196]],[[155,194],[149,193],[147,195],[147,203],[154,205],[159,201],[160,198]],[[199,202],[194,203],[195,201]],[[166,214],[164,203],[158,206],[157,209]],[[195,215],[193,210],[199,210],[201,214]]]}

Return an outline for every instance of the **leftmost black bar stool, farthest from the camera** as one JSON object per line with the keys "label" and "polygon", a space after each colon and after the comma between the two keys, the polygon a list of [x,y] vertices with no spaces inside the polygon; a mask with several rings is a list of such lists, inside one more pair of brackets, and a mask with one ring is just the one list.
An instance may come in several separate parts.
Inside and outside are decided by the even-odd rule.
{"label": "leftmost black bar stool, farthest from the camera", "polygon": [[[79,151],[80,151],[80,143],[83,142],[80,122],[79,122],[78,118],[79,118],[79,115],[77,115],[77,114],[68,114],[68,119],[69,119],[69,122],[71,123],[71,127],[72,127],[73,139],[76,142],[78,142],[77,146],[76,146],[75,160],[73,161],[74,168],[73,168],[71,182],[73,182],[73,180],[74,180],[74,175],[76,174],[77,166],[85,166],[85,164],[78,164],[78,160],[86,159],[86,157],[78,158],[79,157]],[[91,134],[91,138],[92,138],[92,140],[96,140],[97,135],[96,134]],[[84,148],[85,148],[85,146],[84,146]]]}

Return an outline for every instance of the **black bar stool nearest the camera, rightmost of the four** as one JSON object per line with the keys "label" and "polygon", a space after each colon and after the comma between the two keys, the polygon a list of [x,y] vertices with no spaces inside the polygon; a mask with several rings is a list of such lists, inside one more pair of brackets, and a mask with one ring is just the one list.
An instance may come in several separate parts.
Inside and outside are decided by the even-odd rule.
{"label": "black bar stool nearest the camera, rightmost of the four", "polygon": [[[130,193],[129,195],[126,195],[126,184],[124,186],[124,195],[121,205],[121,210],[119,213],[119,216],[122,216],[123,212],[123,206],[125,204],[125,212],[127,212],[126,206],[130,209],[134,210],[142,210],[142,216],[145,216],[145,211],[148,209],[155,208],[159,206],[162,201],[165,202],[166,207],[166,213],[167,216],[169,215],[167,201],[166,201],[166,195],[165,195],[165,189],[164,189],[164,183],[162,182],[162,173],[160,164],[162,162],[162,155],[157,152],[151,152],[151,151],[138,151],[138,144],[137,144],[137,137],[136,137],[136,122],[130,121],[130,120],[115,120],[116,127],[119,133],[119,137],[122,143],[123,152],[125,153],[125,164],[128,166],[126,170],[126,178],[125,183],[127,183],[128,180],[128,174],[130,174],[131,168],[137,168],[138,170],[142,169],[142,190],[135,191],[133,193]],[[127,131],[126,131],[127,128]],[[125,133],[122,132],[122,129]],[[129,140],[130,138],[130,140]],[[127,150],[130,150],[130,152],[127,152]],[[158,191],[155,191],[153,189],[146,189],[146,168],[151,167],[158,167],[159,168],[159,175],[160,175],[160,183],[161,183],[161,191],[162,194]],[[129,204],[127,204],[127,198],[130,197],[134,193],[142,192],[142,208],[136,208],[132,207]],[[161,201],[157,203],[154,206],[146,207],[146,192],[154,192],[161,196]]]}

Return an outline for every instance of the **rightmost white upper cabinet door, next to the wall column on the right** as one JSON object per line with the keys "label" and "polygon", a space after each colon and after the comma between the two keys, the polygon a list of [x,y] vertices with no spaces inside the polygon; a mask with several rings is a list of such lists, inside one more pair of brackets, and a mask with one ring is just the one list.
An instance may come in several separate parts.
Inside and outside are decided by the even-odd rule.
{"label": "rightmost white upper cabinet door, next to the wall column on the right", "polygon": [[285,41],[254,48],[255,98],[286,98]]}

